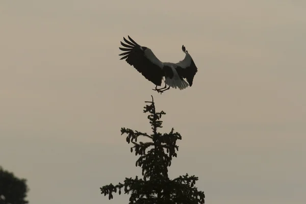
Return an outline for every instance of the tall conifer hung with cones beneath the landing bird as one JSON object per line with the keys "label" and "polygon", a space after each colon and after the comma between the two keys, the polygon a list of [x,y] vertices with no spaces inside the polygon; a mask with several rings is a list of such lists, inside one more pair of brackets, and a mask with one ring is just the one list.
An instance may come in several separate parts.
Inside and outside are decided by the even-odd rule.
{"label": "tall conifer hung with cones beneath the landing bird", "polygon": [[[154,99],[145,101],[144,113],[149,113],[152,134],[133,131],[131,129],[121,128],[121,135],[127,134],[126,142],[133,143],[131,152],[139,155],[136,166],[142,168],[143,179],[138,176],[135,179],[125,178],[123,184],[109,184],[100,188],[101,194],[113,198],[113,193],[130,195],[130,204],[132,203],[204,203],[204,192],[198,191],[194,186],[198,177],[188,173],[170,180],[168,176],[168,167],[171,165],[173,157],[176,157],[176,151],[179,146],[177,140],[182,137],[174,129],[170,133],[161,134],[158,129],[162,127],[161,117],[166,113],[164,111],[156,112]],[[148,138],[148,142],[137,142],[139,137]]]}

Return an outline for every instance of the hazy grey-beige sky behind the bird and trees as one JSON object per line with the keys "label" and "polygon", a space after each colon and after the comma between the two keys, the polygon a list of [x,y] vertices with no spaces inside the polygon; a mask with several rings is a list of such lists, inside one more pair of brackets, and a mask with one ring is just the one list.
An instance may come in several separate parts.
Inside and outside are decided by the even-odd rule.
{"label": "hazy grey-beige sky behind the bird and trees", "polygon": [[[170,177],[199,176],[207,203],[304,203],[306,4],[1,1],[0,165],[31,203],[127,203],[99,187],[141,175],[120,127],[149,132],[144,101],[182,134]],[[192,87],[159,95],[119,61],[123,36],[184,58]]]}

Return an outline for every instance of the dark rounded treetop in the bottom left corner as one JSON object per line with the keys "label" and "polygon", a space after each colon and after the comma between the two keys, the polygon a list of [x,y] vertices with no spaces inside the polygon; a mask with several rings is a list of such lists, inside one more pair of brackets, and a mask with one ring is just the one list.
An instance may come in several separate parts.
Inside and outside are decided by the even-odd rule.
{"label": "dark rounded treetop in the bottom left corner", "polygon": [[27,180],[18,179],[12,172],[0,166],[0,204],[25,204],[28,192]]}

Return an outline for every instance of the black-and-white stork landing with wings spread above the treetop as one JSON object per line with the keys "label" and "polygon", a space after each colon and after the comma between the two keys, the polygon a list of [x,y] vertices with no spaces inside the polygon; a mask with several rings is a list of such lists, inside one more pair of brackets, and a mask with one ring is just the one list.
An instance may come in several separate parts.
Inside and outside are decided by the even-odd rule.
{"label": "black-and-white stork landing with wings spread above the treetop", "polygon": [[[147,80],[156,85],[155,91],[163,93],[172,88],[180,90],[192,86],[193,78],[197,72],[190,54],[183,45],[182,50],[185,53],[185,58],[177,63],[161,62],[148,47],[140,46],[130,36],[129,40],[123,37],[125,43],[121,42],[123,47],[119,47],[124,51],[119,56],[123,56],[120,60],[125,59],[127,63],[134,66]],[[158,89],[164,79],[165,87]],[[186,79],[187,82],[184,80]],[[168,85],[168,88],[167,88]]]}

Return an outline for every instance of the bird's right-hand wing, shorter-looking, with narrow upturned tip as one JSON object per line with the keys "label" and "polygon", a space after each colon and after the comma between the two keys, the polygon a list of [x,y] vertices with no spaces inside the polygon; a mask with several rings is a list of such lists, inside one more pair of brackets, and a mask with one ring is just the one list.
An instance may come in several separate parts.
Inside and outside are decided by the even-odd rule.
{"label": "bird's right-hand wing, shorter-looking, with narrow upturned tip", "polygon": [[175,63],[177,65],[175,69],[181,77],[186,78],[189,86],[192,86],[194,75],[197,72],[197,67],[195,66],[192,57],[190,56],[184,45],[182,46],[182,50],[186,54],[185,58],[184,60]]}

